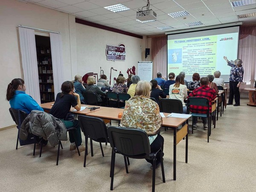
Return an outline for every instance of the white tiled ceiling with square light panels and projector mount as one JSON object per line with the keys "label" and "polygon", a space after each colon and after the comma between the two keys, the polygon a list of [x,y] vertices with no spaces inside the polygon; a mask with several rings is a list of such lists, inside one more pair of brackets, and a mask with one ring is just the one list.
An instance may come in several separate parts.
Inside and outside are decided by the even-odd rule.
{"label": "white tiled ceiling with square light panels and projector mount", "polygon": [[[256,17],[238,19],[237,15],[256,12],[256,3],[248,6],[232,7],[235,0],[150,0],[150,9],[157,13],[157,20],[140,23],[136,12],[147,5],[147,0],[19,0],[44,6],[77,18],[137,35],[159,35],[167,31],[213,26],[243,21],[256,22]],[[114,13],[105,6],[121,3],[131,10]],[[143,9],[145,10],[145,8]],[[167,15],[186,10],[190,15],[175,17]],[[184,19],[186,17],[186,19]],[[201,21],[203,25],[186,26],[185,23]],[[174,29],[160,30],[157,27],[172,26]]]}

